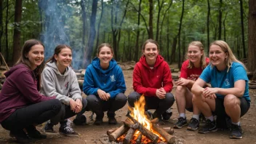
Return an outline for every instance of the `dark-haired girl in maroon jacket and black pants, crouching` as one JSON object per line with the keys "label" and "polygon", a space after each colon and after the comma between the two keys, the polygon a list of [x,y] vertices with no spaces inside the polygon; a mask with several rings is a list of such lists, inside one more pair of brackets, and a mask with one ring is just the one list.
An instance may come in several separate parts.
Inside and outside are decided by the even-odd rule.
{"label": "dark-haired girl in maroon jacket and black pants, crouching", "polygon": [[43,62],[44,45],[31,39],[25,41],[17,64],[4,73],[7,79],[0,93],[0,123],[18,143],[46,138],[35,126],[51,119],[61,108],[55,96],[39,93]]}

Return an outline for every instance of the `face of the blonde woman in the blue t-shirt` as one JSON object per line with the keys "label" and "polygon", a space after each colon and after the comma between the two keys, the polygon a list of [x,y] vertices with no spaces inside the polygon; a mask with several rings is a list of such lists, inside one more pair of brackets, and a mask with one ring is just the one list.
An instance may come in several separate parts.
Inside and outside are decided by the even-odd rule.
{"label": "face of the blonde woman in the blue t-shirt", "polygon": [[226,58],[228,58],[228,53],[224,52],[220,46],[214,44],[209,48],[209,60],[212,65],[224,66]]}

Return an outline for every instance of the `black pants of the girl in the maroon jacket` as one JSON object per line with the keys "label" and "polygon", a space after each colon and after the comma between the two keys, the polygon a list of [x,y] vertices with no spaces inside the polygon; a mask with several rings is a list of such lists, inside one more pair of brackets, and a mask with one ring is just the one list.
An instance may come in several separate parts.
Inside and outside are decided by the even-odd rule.
{"label": "black pants of the girl in the maroon jacket", "polygon": [[60,100],[47,100],[41,103],[28,105],[14,111],[7,119],[1,122],[4,129],[19,131],[33,124],[42,124],[59,113]]}

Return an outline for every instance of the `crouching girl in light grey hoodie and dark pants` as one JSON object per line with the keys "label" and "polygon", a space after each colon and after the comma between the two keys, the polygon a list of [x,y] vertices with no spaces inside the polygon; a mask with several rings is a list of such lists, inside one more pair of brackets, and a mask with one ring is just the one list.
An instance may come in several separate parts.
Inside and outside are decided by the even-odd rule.
{"label": "crouching girl in light grey hoodie and dark pants", "polygon": [[62,103],[58,113],[44,127],[45,132],[54,132],[53,126],[60,122],[59,133],[66,136],[78,136],[71,128],[68,118],[75,116],[73,123],[86,124],[87,119],[83,115],[87,106],[87,100],[81,97],[81,89],[76,78],[76,73],[71,68],[71,47],[61,44],[55,48],[55,53],[47,61],[44,71],[41,73],[41,93],[44,95],[56,95]]}

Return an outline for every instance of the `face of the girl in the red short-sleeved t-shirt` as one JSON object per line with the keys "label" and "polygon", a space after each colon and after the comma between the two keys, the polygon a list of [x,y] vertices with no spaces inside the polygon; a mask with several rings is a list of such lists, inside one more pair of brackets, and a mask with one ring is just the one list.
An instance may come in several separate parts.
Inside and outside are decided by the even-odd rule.
{"label": "face of the girl in the red short-sleeved t-shirt", "polygon": [[204,54],[203,51],[201,51],[200,48],[197,46],[191,45],[188,47],[188,59],[192,63],[200,63],[201,56],[203,54]]}

